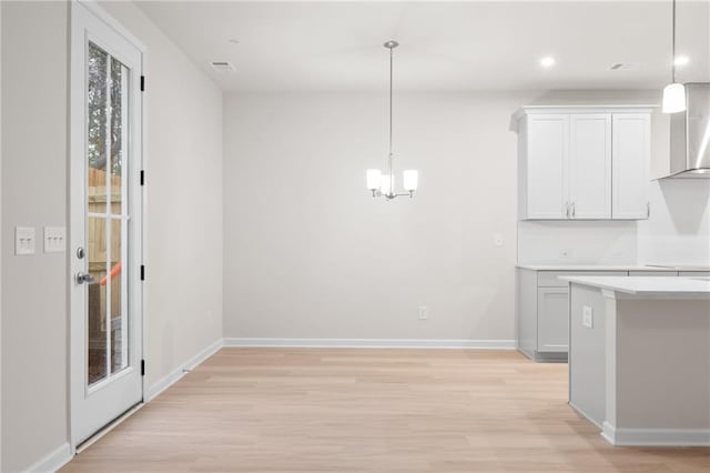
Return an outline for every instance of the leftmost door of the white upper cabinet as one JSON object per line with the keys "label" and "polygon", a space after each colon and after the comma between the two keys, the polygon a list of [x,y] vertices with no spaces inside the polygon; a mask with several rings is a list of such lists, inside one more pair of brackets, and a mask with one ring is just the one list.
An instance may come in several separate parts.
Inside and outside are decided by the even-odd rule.
{"label": "leftmost door of the white upper cabinet", "polygon": [[565,219],[569,117],[530,114],[527,123],[527,218]]}

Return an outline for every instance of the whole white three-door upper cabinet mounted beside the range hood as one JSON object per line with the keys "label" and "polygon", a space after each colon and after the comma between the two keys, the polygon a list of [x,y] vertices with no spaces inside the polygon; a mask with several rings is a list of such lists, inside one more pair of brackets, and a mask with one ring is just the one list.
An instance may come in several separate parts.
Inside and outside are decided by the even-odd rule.
{"label": "whole white three-door upper cabinet mounted beside the range hood", "polygon": [[649,135],[649,109],[525,109],[519,218],[648,218]]}

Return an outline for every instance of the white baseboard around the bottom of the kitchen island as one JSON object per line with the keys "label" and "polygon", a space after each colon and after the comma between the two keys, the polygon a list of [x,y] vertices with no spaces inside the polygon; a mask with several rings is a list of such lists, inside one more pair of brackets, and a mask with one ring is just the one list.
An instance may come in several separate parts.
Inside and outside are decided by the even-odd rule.
{"label": "white baseboard around the bottom of the kitchen island", "polygon": [[617,429],[605,422],[601,436],[612,445],[710,446],[710,429]]}

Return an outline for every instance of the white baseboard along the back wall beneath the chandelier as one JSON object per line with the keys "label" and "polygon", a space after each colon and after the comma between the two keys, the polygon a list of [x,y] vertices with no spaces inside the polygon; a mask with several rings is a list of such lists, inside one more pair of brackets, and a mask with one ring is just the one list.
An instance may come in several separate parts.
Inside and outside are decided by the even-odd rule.
{"label": "white baseboard along the back wall beneath the chandelier", "polygon": [[240,339],[225,338],[224,346],[343,348],[343,349],[471,349],[515,350],[515,340],[428,339]]}

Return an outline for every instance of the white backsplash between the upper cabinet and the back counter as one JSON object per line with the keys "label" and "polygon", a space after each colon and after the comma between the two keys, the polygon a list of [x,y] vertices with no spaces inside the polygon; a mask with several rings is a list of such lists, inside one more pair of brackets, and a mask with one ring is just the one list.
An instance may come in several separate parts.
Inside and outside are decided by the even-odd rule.
{"label": "white backsplash between the upper cabinet and the back counter", "polygon": [[710,266],[710,180],[650,184],[641,221],[520,221],[518,264]]}

